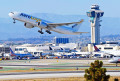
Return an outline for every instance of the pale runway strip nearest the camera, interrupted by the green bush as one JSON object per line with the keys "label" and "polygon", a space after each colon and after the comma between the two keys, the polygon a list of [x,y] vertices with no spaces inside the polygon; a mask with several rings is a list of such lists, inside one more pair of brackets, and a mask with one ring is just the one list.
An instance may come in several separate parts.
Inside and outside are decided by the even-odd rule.
{"label": "pale runway strip nearest the camera, interrupted by the green bush", "polygon": [[[120,76],[120,71],[108,71],[111,76]],[[33,78],[60,78],[60,77],[84,77],[84,71],[46,71],[46,72],[21,72],[0,73],[1,80],[33,79]]]}

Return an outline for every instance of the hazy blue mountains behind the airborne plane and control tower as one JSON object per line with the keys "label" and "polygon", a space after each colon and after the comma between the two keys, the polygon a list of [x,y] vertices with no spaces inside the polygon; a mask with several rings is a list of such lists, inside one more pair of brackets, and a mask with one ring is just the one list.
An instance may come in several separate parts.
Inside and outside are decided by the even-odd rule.
{"label": "hazy blue mountains behind the airborne plane and control tower", "polygon": [[[84,22],[81,24],[79,31],[82,32],[90,32],[90,22],[89,18],[86,15],[57,15],[57,14],[48,14],[48,13],[34,13],[33,16],[38,18],[42,18],[51,22],[74,22],[79,21],[80,19],[84,19]],[[12,23],[13,20],[11,18],[0,18],[0,40],[8,39],[8,38],[31,38],[31,37],[39,37],[37,31],[39,28],[25,28],[24,23],[16,21],[16,24]],[[120,34],[120,18],[110,18],[103,17],[101,22],[101,35],[110,35],[110,34]],[[86,34],[90,36],[90,33]],[[69,36],[64,34],[59,34],[52,32],[51,35],[45,33],[42,36]]]}

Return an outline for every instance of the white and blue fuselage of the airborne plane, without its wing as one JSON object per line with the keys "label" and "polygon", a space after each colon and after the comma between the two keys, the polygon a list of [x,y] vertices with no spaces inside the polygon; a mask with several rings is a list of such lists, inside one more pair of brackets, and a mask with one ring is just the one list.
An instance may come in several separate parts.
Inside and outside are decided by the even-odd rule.
{"label": "white and blue fuselage of the airborne plane, without its wing", "polygon": [[[62,34],[71,34],[71,35],[80,34],[80,33],[74,32],[72,28],[66,27],[66,26],[48,28],[46,23],[51,23],[51,22],[27,15],[24,13],[11,12],[9,13],[9,16],[12,17],[14,20],[25,22],[29,25],[32,25],[33,27],[39,27],[40,29],[50,30],[50,31],[54,31],[54,32],[62,33]],[[40,22],[40,25],[38,25],[38,22]]]}

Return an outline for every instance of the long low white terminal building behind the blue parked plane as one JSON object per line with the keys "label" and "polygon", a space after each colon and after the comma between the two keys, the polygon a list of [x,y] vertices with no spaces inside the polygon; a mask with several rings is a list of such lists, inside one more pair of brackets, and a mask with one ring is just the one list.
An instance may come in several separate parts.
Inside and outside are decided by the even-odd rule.
{"label": "long low white terminal building behind the blue parked plane", "polygon": [[66,43],[55,45],[54,43],[47,44],[23,44],[15,47],[15,53],[25,54],[30,53],[35,56],[40,56],[41,53],[55,53],[55,52],[70,52],[77,48],[76,43]]}

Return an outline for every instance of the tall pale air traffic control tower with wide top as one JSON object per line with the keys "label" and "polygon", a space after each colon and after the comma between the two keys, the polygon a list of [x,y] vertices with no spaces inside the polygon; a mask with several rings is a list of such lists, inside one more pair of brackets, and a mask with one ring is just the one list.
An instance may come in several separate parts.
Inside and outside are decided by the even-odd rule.
{"label": "tall pale air traffic control tower with wide top", "polygon": [[104,14],[103,11],[99,9],[98,5],[92,5],[91,10],[87,12],[87,16],[90,17],[91,22],[91,43],[100,44],[100,17]]}

